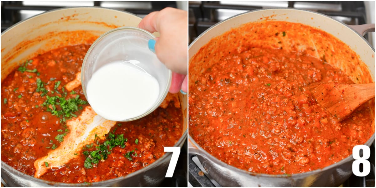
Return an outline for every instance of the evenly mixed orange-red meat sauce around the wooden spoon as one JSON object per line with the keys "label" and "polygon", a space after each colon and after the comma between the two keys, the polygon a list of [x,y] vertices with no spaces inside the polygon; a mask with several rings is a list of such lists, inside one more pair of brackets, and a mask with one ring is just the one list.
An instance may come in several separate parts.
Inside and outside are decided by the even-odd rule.
{"label": "evenly mixed orange-red meat sauce around the wooden spoon", "polygon": [[[281,49],[223,56],[190,86],[189,131],[211,155],[243,170],[303,173],[331,165],[373,131],[370,104],[338,122],[302,89],[352,81],[320,59]],[[191,82],[192,83],[192,82]]]}

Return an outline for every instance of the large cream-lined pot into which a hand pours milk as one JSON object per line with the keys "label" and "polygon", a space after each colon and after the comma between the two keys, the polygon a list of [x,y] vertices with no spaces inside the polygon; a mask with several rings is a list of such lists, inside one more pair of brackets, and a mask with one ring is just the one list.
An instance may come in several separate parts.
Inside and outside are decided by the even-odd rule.
{"label": "large cream-lined pot into which a hand pours milk", "polygon": [[[26,59],[58,47],[91,44],[108,30],[122,26],[136,27],[141,18],[106,8],[64,8],[36,15],[5,30],[1,36],[1,80]],[[83,31],[82,31],[83,30]],[[158,33],[154,33],[158,36]],[[175,146],[181,147],[187,136],[187,99],[182,104],[182,137]],[[91,186],[158,186],[165,177],[172,153],[149,166],[126,176],[91,183]],[[36,179],[1,161],[1,176],[8,186],[88,186],[87,183],[60,183]]]}

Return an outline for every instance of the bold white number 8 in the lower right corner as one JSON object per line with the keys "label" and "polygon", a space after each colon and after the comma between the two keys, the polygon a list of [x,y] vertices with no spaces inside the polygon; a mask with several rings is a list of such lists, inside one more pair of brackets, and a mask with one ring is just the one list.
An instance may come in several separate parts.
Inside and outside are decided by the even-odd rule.
{"label": "bold white number 8 in the lower right corner", "polygon": [[[363,156],[360,156],[360,150],[363,150]],[[364,177],[367,176],[371,171],[371,164],[367,161],[370,158],[371,151],[370,147],[365,145],[358,145],[353,147],[353,158],[355,161],[353,162],[353,174],[355,176]],[[359,165],[363,164],[363,171],[360,172]]]}

